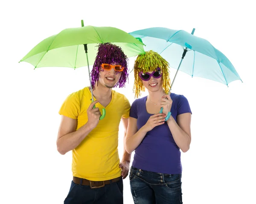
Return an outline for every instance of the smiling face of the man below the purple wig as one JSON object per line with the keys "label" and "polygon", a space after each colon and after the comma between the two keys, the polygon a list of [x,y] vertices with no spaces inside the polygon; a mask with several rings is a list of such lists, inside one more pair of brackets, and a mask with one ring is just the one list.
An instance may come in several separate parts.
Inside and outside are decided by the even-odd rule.
{"label": "smiling face of the man below the purple wig", "polygon": [[[118,65],[116,63],[111,65]],[[101,68],[99,72],[99,83],[107,88],[113,88],[121,77],[122,71],[115,71],[114,68],[105,70]]]}

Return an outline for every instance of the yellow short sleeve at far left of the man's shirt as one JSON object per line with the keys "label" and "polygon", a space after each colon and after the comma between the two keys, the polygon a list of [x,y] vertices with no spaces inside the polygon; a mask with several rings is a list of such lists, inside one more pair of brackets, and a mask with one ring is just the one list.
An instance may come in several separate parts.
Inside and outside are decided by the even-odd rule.
{"label": "yellow short sleeve at far left of the man's shirt", "polygon": [[77,119],[79,108],[78,96],[76,93],[73,93],[67,96],[58,113],[72,119]]}

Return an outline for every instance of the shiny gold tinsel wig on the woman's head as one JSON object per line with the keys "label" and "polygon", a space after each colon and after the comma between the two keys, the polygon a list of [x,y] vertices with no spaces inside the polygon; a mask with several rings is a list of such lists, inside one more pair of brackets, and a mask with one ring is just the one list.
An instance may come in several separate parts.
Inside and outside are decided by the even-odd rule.
{"label": "shiny gold tinsel wig on the woman's head", "polygon": [[142,79],[139,77],[139,73],[150,71],[157,71],[157,68],[161,69],[162,79],[163,79],[163,89],[165,93],[169,92],[171,87],[171,81],[169,77],[169,63],[163,59],[157,52],[152,50],[146,51],[145,54],[138,55],[136,61],[134,62],[134,87],[133,93],[135,97],[138,98],[141,95],[141,91],[145,91],[145,86],[143,85]]}

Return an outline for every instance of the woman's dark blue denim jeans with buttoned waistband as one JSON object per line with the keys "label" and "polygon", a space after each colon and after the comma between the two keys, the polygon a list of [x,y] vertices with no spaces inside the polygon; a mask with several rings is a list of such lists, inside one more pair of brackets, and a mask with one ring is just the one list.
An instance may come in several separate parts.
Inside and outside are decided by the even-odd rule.
{"label": "woman's dark blue denim jeans with buttoned waistband", "polygon": [[134,204],[182,204],[181,174],[163,174],[131,167]]}

